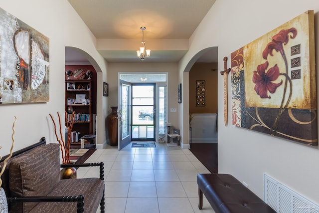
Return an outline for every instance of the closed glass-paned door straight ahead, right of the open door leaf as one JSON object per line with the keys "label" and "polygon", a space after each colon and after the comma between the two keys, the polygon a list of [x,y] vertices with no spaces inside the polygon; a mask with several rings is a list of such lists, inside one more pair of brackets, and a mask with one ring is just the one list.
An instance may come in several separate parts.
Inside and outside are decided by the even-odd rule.
{"label": "closed glass-paned door straight ahead, right of the open door leaf", "polygon": [[132,84],[132,141],[155,140],[155,84]]}

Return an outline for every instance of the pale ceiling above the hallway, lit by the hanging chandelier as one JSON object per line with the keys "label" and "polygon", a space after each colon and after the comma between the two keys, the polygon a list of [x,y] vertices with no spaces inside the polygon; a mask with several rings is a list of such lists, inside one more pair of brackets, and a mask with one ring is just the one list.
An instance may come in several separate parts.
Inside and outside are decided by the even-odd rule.
{"label": "pale ceiling above the hallway, lit by the hanging chandelier", "polygon": [[[188,48],[185,43],[215,0],[68,0],[95,37],[98,51],[109,62],[138,62],[136,50],[144,40],[151,49],[145,62],[179,61]],[[116,45],[107,45],[107,44]],[[161,43],[161,45],[156,45]],[[167,45],[166,45],[167,43]],[[123,45],[125,44],[125,45]],[[110,47],[112,46],[112,47]],[[66,63],[85,61],[72,48],[66,48]],[[197,62],[217,62],[217,51],[206,52]]]}

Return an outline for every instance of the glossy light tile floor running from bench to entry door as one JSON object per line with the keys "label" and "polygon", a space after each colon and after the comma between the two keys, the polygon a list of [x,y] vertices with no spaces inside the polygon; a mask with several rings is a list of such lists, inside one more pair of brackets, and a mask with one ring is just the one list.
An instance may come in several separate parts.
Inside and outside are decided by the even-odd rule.
{"label": "glossy light tile floor running from bench to entry door", "polygon": [[[86,161],[104,162],[106,213],[214,213],[205,197],[198,209],[196,175],[209,171],[188,149],[131,146],[98,149]],[[89,177],[99,169],[78,170],[78,178]]]}

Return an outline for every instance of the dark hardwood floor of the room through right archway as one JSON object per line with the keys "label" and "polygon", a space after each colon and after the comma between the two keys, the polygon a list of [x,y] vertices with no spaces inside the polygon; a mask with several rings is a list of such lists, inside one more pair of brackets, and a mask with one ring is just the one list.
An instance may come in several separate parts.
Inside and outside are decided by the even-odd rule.
{"label": "dark hardwood floor of the room through right archway", "polygon": [[211,173],[218,172],[217,143],[190,143],[189,149]]}

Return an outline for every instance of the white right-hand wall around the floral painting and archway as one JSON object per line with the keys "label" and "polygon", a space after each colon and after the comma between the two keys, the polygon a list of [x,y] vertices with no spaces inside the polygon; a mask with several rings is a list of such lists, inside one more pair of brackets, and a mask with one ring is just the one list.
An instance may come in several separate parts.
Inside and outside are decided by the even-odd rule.
{"label": "white right-hand wall around the floral painting and archway", "polygon": [[[315,12],[315,40],[319,41],[317,0],[216,0],[190,38],[190,49],[179,64],[183,72],[200,50],[218,47],[218,70],[224,70],[223,57],[262,36],[306,10]],[[319,48],[316,48],[319,61]],[[319,63],[316,65],[319,70]],[[317,81],[318,81],[317,75]],[[185,89],[184,89],[185,90]],[[228,76],[228,100],[231,83]],[[317,89],[318,91],[318,89]],[[317,97],[318,99],[318,97]],[[184,106],[187,103],[184,103]],[[230,106],[228,104],[228,106]],[[184,112],[184,118],[186,117]],[[223,114],[223,77],[218,76],[218,114]],[[263,174],[267,173],[289,188],[319,204],[319,150],[231,125],[218,119],[218,172],[234,175],[263,198]],[[181,120],[187,125],[187,120]],[[184,133],[185,134],[185,133]]]}

